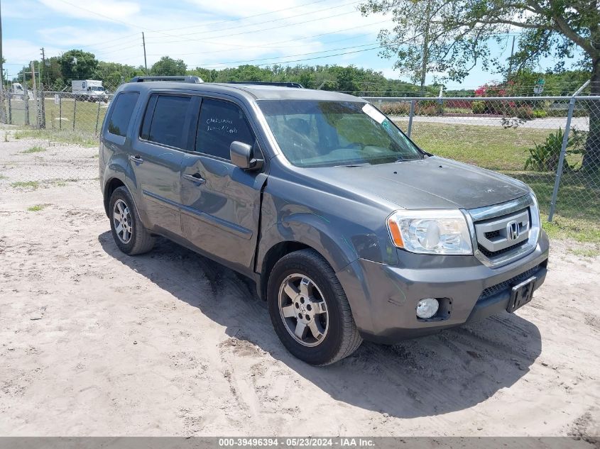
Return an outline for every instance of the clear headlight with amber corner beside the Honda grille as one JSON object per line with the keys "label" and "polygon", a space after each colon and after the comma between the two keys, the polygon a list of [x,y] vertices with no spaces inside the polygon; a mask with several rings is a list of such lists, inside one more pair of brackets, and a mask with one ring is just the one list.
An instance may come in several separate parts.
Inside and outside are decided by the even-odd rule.
{"label": "clear headlight with amber corner beside the Honda grille", "polygon": [[458,210],[396,211],[388,217],[398,248],[420,254],[473,254],[467,219]]}

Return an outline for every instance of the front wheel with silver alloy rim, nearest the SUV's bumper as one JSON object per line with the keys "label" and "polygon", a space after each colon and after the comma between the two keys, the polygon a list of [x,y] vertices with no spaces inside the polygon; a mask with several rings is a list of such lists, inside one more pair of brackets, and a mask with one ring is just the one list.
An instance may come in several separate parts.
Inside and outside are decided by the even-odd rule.
{"label": "front wheel with silver alloy rim, nearest the SUV's bumper", "polygon": [[362,343],[342,285],[315,250],[295,251],[276,263],[268,279],[267,303],[281,343],[310,365],[342,360]]}

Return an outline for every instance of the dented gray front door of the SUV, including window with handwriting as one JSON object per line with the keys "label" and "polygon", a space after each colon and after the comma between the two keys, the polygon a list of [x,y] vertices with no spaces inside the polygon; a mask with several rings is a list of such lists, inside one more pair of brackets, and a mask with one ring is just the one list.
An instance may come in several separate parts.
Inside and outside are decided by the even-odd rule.
{"label": "dented gray front door of the SUV, including window with handwriting", "polygon": [[253,265],[266,174],[231,163],[229,145],[234,140],[253,145],[255,157],[263,158],[239,105],[202,99],[194,149],[182,164],[181,219],[187,240],[244,272]]}

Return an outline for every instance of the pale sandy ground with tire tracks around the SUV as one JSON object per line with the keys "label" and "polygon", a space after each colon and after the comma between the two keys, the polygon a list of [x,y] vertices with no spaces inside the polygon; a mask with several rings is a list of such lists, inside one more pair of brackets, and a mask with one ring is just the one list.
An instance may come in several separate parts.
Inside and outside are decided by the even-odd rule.
{"label": "pale sandy ground with tire tracks around the SUV", "polygon": [[0,435],[600,434],[600,257],[554,241],[516,314],[310,367],[234,272],[119,253],[97,150],[34,143],[0,133]]}

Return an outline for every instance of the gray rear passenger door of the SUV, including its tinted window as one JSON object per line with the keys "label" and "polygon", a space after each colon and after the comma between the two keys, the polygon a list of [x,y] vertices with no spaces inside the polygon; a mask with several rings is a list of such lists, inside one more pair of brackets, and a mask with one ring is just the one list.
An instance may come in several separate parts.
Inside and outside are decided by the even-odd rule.
{"label": "gray rear passenger door of the SUV, including its tinted window", "polygon": [[148,99],[131,166],[143,209],[156,231],[181,235],[180,169],[189,142],[192,96],[155,93]]}

